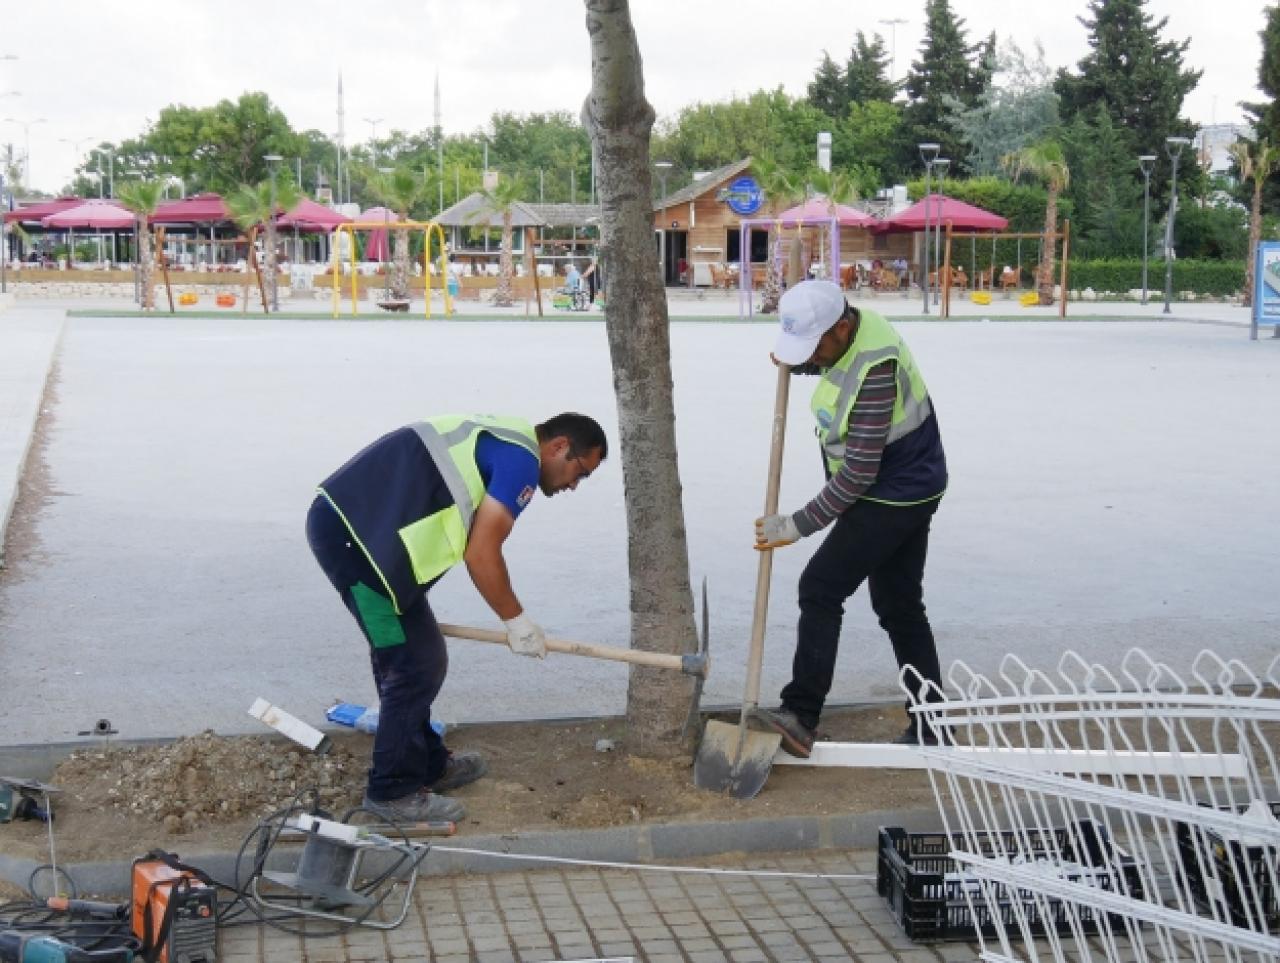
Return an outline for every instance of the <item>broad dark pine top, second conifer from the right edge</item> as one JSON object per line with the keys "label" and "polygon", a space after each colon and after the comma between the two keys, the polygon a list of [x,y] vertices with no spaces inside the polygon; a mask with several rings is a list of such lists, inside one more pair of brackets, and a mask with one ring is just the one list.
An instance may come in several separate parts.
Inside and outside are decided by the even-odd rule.
{"label": "broad dark pine top, second conifer from the right edge", "polygon": [[1079,20],[1089,32],[1091,51],[1078,73],[1059,70],[1053,86],[1064,120],[1101,102],[1139,150],[1160,152],[1166,137],[1193,133],[1180,114],[1202,72],[1183,68],[1190,40],[1161,40],[1169,18],[1153,22],[1144,5],[1146,0],[1089,0],[1092,18]]}

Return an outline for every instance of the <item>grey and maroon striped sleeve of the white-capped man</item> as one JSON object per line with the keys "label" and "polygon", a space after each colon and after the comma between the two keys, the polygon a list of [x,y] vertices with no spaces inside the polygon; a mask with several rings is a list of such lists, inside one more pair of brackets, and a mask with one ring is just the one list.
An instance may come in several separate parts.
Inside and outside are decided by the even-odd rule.
{"label": "grey and maroon striped sleeve of the white-capped man", "polygon": [[867,373],[854,407],[849,412],[845,461],[840,471],[827,480],[826,487],[812,502],[791,516],[801,535],[812,535],[824,529],[876,482],[890,424],[893,420],[896,382],[896,361],[883,361]]}

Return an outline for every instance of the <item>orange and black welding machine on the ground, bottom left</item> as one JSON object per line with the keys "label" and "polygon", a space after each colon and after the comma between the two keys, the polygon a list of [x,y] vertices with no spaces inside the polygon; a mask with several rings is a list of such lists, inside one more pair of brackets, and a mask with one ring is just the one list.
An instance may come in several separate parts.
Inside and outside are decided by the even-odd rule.
{"label": "orange and black welding machine on the ground, bottom left", "polygon": [[214,881],[170,853],[133,861],[133,935],[157,963],[216,963]]}

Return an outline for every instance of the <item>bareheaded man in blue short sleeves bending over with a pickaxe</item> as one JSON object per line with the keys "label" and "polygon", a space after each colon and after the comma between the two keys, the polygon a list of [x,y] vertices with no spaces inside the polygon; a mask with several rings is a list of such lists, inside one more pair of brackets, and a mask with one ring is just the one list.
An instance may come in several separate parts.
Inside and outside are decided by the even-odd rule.
{"label": "bareheaded man in blue short sleeves bending over with a pickaxe", "polygon": [[431,729],[448,652],[428,592],[466,562],[511,651],[541,658],[545,635],[512,590],[502,544],[536,489],[572,492],[607,455],[586,415],[536,426],[449,415],[383,435],[320,484],[307,542],[369,642],[381,702],[364,802],[375,816],[458,821],[462,803],[440,793],[488,770]]}

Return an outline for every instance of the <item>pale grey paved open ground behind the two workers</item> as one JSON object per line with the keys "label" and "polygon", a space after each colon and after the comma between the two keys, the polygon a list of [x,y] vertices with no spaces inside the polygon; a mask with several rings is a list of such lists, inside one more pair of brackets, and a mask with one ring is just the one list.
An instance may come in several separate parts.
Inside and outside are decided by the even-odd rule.
{"label": "pale grey paved open ground behind the two workers", "polygon": [[[719,310],[717,298],[722,307],[722,295],[708,295],[672,310]],[[1242,309],[1196,310],[1220,323],[904,323],[952,471],[927,589],[945,662],[992,671],[1019,652],[1051,666],[1068,645],[1114,658],[1135,643],[1183,665],[1206,644],[1263,665],[1274,653],[1280,597],[1258,587],[1280,542],[1266,497],[1280,465],[1280,342],[1249,342]],[[42,311],[19,303],[0,315],[0,332]],[[712,588],[705,699],[727,704],[742,689],[749,520],[767,447],[739,428],[768,424],[772,373],[762,359],[772,332],[677,323],[672,343],[691,567]],[[58,357],[35,554],[0,579],[8,744],[74,739],[101,717],[125,738],[256,731],[244,709],[259,695],[311,720],[334,698],[370,698],[358,640],[301,538],[315,482],[429,411],[581,407],[611,430],[614,417],[598,320],[77,316]],[[47,362],[46,352],[37,371]],[[22,364],[0,351],[0,365]],[[726,376],[733,371],[763,383]],[[820,483],[805,387],[791,406],[786,506]],[[29,416],[13,415],[5,430],[26,441]],[[626,644],[618,460],[598,475],[530,511],[509,562],[552,631]],[[548,556],[548,546],[563,551]],[[805,542],[774,562],[767,699],[790,666],[794,585],[810,552]],[[493,621],[458,575],[433,604],[451,621]],[[888,647],[861,598],[846,639],[842,654],[859,671],[844,663],[833,699],[897,698]],[[448,721],[622,708],[617,666],[513,663],[470,643],[453,652],[440,702]],[[156,667],[183,712],[138,704],[140,665]]]}

